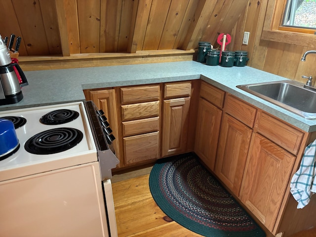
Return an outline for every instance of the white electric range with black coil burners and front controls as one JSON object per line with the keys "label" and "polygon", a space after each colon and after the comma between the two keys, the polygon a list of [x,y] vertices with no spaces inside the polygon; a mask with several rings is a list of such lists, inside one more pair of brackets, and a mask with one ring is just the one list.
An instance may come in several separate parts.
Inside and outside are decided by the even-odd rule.
{"label": "white electric range with black coil burners and front controls", "polygon": [[118,159],[103,112],[74,102],[0,118],[15,123],[20,144],[0,160],[0,236],[117,236],[110,178]]}

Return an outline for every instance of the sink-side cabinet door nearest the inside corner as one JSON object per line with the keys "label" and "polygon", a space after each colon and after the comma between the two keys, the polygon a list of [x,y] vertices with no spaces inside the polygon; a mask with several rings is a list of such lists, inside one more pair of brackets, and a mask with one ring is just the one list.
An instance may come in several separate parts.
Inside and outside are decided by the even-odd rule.
{"label": "sink-side cabinet door nearest the inside corner", "polygon": [[199,99],[194,151],[212,171],[215,166],[222,113],[216,106],[202,98]]}

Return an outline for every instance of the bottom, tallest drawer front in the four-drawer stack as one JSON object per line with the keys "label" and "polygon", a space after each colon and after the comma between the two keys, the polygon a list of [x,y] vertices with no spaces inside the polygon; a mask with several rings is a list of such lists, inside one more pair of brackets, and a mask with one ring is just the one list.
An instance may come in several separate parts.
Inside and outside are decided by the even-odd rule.
{"label": "bottom, tallest drawer front in the four-drawer stack", "polygon": [[159,132],[123,138],[126,164],[159,158]]}

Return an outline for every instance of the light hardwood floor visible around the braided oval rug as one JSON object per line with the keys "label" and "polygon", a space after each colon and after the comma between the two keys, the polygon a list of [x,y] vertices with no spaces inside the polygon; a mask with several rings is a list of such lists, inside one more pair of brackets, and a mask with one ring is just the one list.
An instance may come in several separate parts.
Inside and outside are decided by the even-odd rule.
{"label": "light hardwood floor visible around the braided oval rug", "polygon": [[[149,190],[149,174],[143,175],[148,172],[150,169],[142,171],[141,176],[136,172],[113,178],[118,237],[202,237],[172,221],[161,211]],[[291,237],[316,237],[316,228]]]}

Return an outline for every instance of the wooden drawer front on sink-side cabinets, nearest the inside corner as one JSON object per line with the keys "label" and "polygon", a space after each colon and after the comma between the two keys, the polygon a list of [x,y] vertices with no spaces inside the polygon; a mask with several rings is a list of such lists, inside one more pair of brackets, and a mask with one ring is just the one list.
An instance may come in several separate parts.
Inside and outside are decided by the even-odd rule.
{"label": "wooden drawer front on sink-side cabinets, nearest the inside corner", "polygon": [[225,91],[218,89],[205,81],[202,81],[201,83],[199,96],[219,108],[223,108],[224,106]]}

